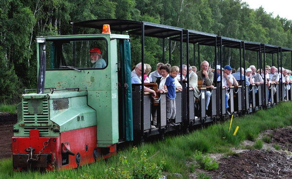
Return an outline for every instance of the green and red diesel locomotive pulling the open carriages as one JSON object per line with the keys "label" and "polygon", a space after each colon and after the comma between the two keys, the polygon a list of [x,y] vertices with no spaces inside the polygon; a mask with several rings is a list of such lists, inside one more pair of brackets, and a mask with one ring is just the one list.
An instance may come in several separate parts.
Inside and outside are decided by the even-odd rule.
{"label": "green and red diesel locomotive pulling the open carriages", "polygon": [[[23,94],[18,106],[14,169],[75,168],[115,154],[119,139],[133,140],[132,106],[118,108],[132,98],[131,88],[119,88],[131,86],[129,36],[39,36],[37,43],[38,89]],[[94,66],[93,48],[102,66]]]}

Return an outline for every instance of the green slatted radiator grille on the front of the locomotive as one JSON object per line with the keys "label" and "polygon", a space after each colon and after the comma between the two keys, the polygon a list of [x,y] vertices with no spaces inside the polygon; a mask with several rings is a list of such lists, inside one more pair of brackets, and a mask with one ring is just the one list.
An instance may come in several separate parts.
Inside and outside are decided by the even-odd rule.
{"label": "green slatted radiator grille on the front of the locomotive", "polygon": [[31,129],[38,129],[39,134],[49,133],[49,103],[47,98],[23,99],[24,134]]}

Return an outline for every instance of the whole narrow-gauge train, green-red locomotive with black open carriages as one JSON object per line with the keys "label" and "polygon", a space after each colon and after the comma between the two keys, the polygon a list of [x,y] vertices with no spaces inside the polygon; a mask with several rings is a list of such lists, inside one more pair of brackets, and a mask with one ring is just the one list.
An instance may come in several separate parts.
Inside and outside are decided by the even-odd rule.
{"label": "whole narrow-gauge train, green-red locomotive with black open carriages", "polygon": [[[214,64],[221,66],[222,47],[238,49],[240,67],[243,65],[244,69],[245,50],[257,52],[259,67],[262,64],[265,66],[266,54],[272,54],[272,58],[274,53],[278,54],[279,64],[279,54],[281,62],[282,52],[292,52],[292,49],[268,44],[119,19],[73,23],[74,34],[76,28],[101,29],[104,24],[109,24],[112,31],[120,34],[111,34],[109,26],[105,26],[107,28],[104,28],[102,34],[37,37],[38,89],[37,93],[27,93],[29,90],[25,90],[22,102],[18,105],[18,123],[14,125],[12,138],[14,170],[76,168],[116,154],[118,143],[142,140],[154,135],[163,138],[168,132],[188,131],[192,126],[228,117],[224,100],[226,89],[214,84],[209,109],[205,110],[207,89],[199,89],[200,100],[195,102],[194,91],[187,88],[187,84],[182,84],[182,91],[176,92],[175,123],[178,125],[166,125],[166,94],[157,93],[157,103],[150,94],[144,93],[143,80],[141,85],[131,84],[131,35],[141,36],[142,64],[145,36],[162,38],[163,63],[165,39],[169,39],[170,46],[171,41],[180,42],[180,69],[183,64],[183,43],[187,46],[186,64],[189,64],[191,43],[194,44],[194,51],[195,44],[198,47],[197,64],[200,64],[199,46],[208,45],[214,47]],[[125,31],[128,35],[123,35]],[[105,67],[91,68],[88,51],[92,47],[100,49]],[[168,63],[171,63],[171,52]],[[271,96],[271,103],[266,99],[274,88],[267,85],[249,87],[242,84],[237,88],[230,88],[230,112],[245,114],[273,107],[284,100],[285,94],[286,99],[291,100],[292,90],[281,83],[275,86],[277,90]],[[257,93],[254,92],[255,89]],[[250,96],[249,90],[252,91]],[[268,93],[268,90],[271,92]],[[199,110],[195,108],[195,103],[201,106]],[[154,129],[151,128],[153,105],[158,107],[158,127]]]}

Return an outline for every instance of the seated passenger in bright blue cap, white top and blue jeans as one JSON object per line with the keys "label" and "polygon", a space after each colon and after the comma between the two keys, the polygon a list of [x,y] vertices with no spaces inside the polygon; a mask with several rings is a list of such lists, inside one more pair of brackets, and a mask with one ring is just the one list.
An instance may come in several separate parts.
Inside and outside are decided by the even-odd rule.
{"label": "seated passenger in bright blue cap, white top and blue jeans", "polygon": [[[227,92],[227,90],[229,90],[229,87],[231,87],[233,85],[235,87],[238,87],[238,83],[235,80],[234,76],[231,74],[231,70],[232,70],[232,68],[229,65],[226,65],[224,67],[224,72],[223,72],[223,75],[222,75],[222,87],[225,87],[226,88],[225,104],[226,104],[226,113],[228,115],[230,115],[230,112],[228,111],[228,108],[229,108],[229,106],[228,106],[228,100],[230,98],[230,95]],[[220,81],[220,76],[218,78],[219,78],[219,81]]]}

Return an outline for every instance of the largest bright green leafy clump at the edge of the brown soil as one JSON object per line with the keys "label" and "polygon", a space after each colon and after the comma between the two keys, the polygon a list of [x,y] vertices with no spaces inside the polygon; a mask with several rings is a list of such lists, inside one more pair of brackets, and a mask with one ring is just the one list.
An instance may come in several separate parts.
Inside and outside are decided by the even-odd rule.
{"label": "largest bright green leafy clump at the edge of the brown soil", "polygon": [[216,162],[209,155],[202,155],[202,152],[195,150],[194,154],[195,161],[198,162],[201,168],[205,170],[214,170],[219,167],[219,162]]}

